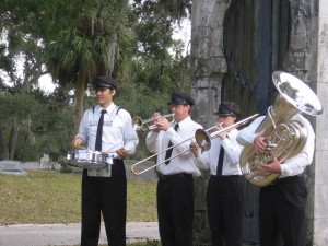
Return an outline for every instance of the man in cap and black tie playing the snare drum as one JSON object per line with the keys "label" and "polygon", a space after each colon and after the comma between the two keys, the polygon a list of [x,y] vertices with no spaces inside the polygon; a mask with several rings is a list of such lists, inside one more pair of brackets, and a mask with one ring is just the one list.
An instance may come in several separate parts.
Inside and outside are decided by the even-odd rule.
{"label": "man in cap and black tie playing the snare drum", "polygon": [[87,151],[114,152],[110,174],[83,169],[81,246],[98,245],[101,213],[108,245],[126,245],[127,177],[124,159],[136,152],[139,143],[130,114],[113,102],[117,92],[112,77],[95,78],[97,105],[85,110],[72,148],[87,145]]}

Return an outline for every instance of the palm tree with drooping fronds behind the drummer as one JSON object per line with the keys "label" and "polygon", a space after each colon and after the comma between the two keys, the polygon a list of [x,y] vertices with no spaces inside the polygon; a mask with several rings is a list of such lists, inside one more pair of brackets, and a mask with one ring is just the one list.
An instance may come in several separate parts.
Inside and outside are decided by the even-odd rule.
{"label": "palm tree with drooping fronds behind the drummer", "polygon": [[[77,27],[60,32],[47,46],[47,68],[60,85],[75,89],[77,124],[83,115],[84,94],[96,75],[112,74],[117,55],[117,35],[124,25],[128,1],[97,1],[83,11]],[[122,21],[121,21],[122,20]]]}

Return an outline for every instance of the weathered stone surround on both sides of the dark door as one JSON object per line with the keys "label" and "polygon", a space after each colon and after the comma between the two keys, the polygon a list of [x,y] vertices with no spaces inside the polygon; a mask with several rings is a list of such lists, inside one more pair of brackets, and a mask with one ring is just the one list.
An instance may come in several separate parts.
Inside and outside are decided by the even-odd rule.
{"label": "weathered stone surround on both sides of the dark door", "polygon": [[[196,99],[194,118],[204,128],[215,122],[213,112],[220,103],[221,83],[226,73],[223,56],[223,19],[229,0],[194,1],[191,17],[191,94]],[[308,242],[328,245],[328,0],[290,0],[291,40],[284,70],[306,82],[324,105],[324,114],[308,117],[316,132],[315,160],[307,169]],[[196,184],[196,245],[208,245],[209,230],[204,208],[207,175]]]}

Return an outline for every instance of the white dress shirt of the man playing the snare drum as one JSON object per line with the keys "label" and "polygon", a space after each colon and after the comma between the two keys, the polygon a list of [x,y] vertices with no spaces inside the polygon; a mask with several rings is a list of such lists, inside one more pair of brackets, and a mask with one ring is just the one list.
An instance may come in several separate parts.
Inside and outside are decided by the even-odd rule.
{"label": "white dress shirt of the man playing the snare drum", "polygon": [[102,151],[116,151],[125,148],[129,154],[136,153],[139,139],[132,127],[131,116],[122,108],[116,115],[118,107],[114,103],[107,108],[96,105],[94,108],[85,110],[77,137],[82,138],[83,142],[87,143],[87,150],[94,151],[97,126],[103,109],[106,109],[107,113],[104,115]]}

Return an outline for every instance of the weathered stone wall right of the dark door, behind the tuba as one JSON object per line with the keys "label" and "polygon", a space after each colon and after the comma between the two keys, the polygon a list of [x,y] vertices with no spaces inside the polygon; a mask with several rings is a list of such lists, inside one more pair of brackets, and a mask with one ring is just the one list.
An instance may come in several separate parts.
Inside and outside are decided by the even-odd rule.
{"label": "weathered stone wall right of the dark door, behind the tuba", "polygon": [[[328,1],[291,0],[291,44],[284,61],[285,70],[306,82],[324,105],[324,115],[308,117],[316,132],[315,160],[307,169],[308,232],[307,245],[328,245],[328,157],[327,130],[328,108]],[[325,110],[326,109],[326,110]]]}

